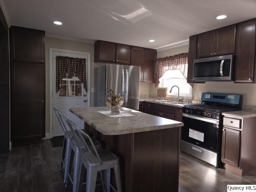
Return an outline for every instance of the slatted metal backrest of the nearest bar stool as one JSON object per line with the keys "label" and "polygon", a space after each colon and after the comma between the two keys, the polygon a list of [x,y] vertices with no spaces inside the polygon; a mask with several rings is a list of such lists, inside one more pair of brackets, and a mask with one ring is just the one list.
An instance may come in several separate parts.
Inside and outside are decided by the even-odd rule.
{"label": "slatted metal backrest of the nearest bar stool", "polygon": [[[86,137],[86,138],[90,141],[90,144],[91,144],[92,149],[93,149],[93,153],[94,153],[94,154],[96,155],[96,157],[98,158],[99,163],[100,163],[101,165],[103,165],[102,160],[100,159],[100,156],[99,156],[99,154],[98,154],[98,152],[97,152],[97,150],[96,150],[96,148],[95,148],[95,146],[94,146],[94,144],[93,144],[92,139],[90,138],[90,136],[88,136],[88,134],[86,134],[85,132],[83,132],[82,130],[80,130],[80,129],[78,128],[78,126],[76,126],[76,124],[74,124],[74,123],[73,123],[72,121],[70,121],[69,119],[68,119],[68,123],[69,123],[69,126],[70,126],[70,130],[71,130],[72,133],[74,134],[75,140],[76,140],[76,139],[82,140],[82,142],[84,143],[84,145],[86,146],[86,148],[88,149],[88,151],[89,151],[89,152],[92,152],[92,151],[90,150],[90,148],[88,147],[88,145],[86,144],[85,140],[84,140],[84,137]],[[79,148],[80,152],[82,153],[82,151],[81,151],[81,146],[80,146],[80,144],[78,144],[78,142],[77,142],[77,145],[78,145],[78,148]]]}

